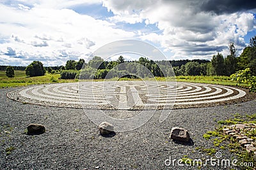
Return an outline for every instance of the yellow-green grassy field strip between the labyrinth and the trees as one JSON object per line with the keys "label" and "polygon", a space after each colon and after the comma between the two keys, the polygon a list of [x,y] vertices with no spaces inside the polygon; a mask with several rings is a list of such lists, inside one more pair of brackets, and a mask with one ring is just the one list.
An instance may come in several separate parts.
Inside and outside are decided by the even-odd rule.
{"label": "yellow-green grassy field strip between the labyrinth and the trees", "polygon": [[[15,87],[24,85],[34,85],[43,83],[68,83],[77,82],[78,80],[61,80],[60,74],[45,74],[44,76],[29,77],[26,76],[25,71],[15,71],[14,78],[8,78],[5,71],[0,71],[0,87]],[[113,78],[111,80],[118,80]],[[132,80],[129,78],[121,78],[120,80]],[[145,80],[155,80],[154,78],[146,78]],[[157,77],[158,81],[173,81],[173,77]],[[103,81],[103,80],[95,80]],[[210,83],[218,85],[236,85],[236,81],[230,80],[228,76],[177,76],[176,81],[195,82],[195,83]],[[248,84],[243,84],[243,87],[248,87]]]}

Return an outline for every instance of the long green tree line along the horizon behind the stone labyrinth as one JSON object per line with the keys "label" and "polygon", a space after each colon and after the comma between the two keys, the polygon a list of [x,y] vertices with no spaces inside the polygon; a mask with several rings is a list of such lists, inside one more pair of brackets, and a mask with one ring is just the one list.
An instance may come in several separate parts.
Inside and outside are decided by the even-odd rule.
{"label": "long green tree line along the horizon behind the stone labyrinth", "polygon": [[[125,75],[129,78],[150,76],[198,76],[217,75],[230,76],[236,71],[250,69],[250,74],[256,75],[256,36],[250,39],[243,53],[237,57],[234,43],[230,43],[229,55],[223,57],[221,53],[212,56],[211,60],[149,60],[140,57],[138,60],[125,61],[122,55],[118,60],[107,61],[99,56],[93,57],[88,63],[84,59],[67,60],[65,66],[44,67],[42,62],[34,61],[25,68],[27,76],[41,76],[46,72],[61,73],[61,78],[104,79]],[[172,67],[168,67],[172,65]],[[7,66],[0,66],[0,69]],[[24,69],[14,66],[13,69]],[[11,71],[12,72],[12,71]],[[8,69],[10,73],[10,68]]]}

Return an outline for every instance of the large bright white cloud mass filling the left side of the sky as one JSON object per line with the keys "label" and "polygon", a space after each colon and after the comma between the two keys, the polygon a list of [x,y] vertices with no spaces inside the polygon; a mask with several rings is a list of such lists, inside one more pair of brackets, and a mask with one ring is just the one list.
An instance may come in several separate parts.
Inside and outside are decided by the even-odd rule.
{"label": "large bright white cloud mass filling the left side of the sky", "polygon": [[[93,2],[58,1],[62,6]],[[114,29],[110,22],[59,8],[58,3],[37,2],[31,5],[33,8],[30,10],[17,10],[0,3],[0,11],[4,13],[0,15],[0,37],[9,39],[8,43],[0,43],[0,49],[8,46],[20,52],[20,55],[26,55],[24,58],[28,60],[45,60],[52,66],[55,59],[58,60],[55,63],[60,65],[69,58],[85,58],[106,43],[135,35],[133,32]],[[67,58],[61,58],[62,61],[58,58],[61,50],[68,54]]]}

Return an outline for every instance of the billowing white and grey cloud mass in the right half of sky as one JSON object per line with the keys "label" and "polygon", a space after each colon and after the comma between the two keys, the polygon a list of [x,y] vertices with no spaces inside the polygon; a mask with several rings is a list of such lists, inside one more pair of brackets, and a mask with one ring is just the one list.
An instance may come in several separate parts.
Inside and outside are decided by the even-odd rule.
{"label": "billowing white and grey cloud mass in the right half of sky", "polygon": [[[113,22],[134,24],[145,20],[146,24],[157,24],[163,34],[149,32],[140,38],[160,43],[163,48],[171,50],[174,57],[209,57],[216,52],[226,55],[230,41],[234,41],[241,53],[245,46],[244,36],[255,29],[255,18],[246,11],[254,4],[216,1],[215,5],[221,7],[213,8],[212,3],[214,1],[138,0],[116,3],[108,0],[104,1],[104,6],[116,14],[110,18]],[[230,9],[222,8],[228,4],[232,4]]]}

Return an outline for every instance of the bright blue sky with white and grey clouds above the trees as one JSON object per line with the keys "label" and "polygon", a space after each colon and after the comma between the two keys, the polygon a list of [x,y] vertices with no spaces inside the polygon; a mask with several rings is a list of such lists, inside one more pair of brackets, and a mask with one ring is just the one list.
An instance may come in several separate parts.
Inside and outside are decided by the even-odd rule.
{"label": "bright blue sky with white and grey clouds above the trees", "polygon": [[0,1],[0,65],[6,66],[33,60],[65,66],[125,39],[145,41],[168,60],[211,59],[227,56],[230,42],[240,55],[254,36],[251,0]]}

